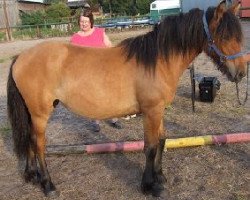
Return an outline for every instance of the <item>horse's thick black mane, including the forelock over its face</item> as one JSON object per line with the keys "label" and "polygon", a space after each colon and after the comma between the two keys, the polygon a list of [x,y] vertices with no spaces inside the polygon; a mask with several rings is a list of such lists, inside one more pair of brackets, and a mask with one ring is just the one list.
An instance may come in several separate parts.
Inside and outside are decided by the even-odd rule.
{"label": "horse's thick black mane, including the forelock over its face", "polygon": [[[214,11],[214,7],[206,11],[208,23]],[[186,14],[168,16],[155,25],[152,31],[145,35],[125,39],[119,46],[123,48],[128,60],[135,56],[138,64],[143,64],[149,69],[155,69],[159,55],[167,61],[173,53],[185,55],[192,49],[202,52],[206,42],[202,22],[203,13],[202,10],[192,9]],[[231,12],[223,15],[217,34],[221,39],[235,37],[239,41],[242,40],[241,26]]]}

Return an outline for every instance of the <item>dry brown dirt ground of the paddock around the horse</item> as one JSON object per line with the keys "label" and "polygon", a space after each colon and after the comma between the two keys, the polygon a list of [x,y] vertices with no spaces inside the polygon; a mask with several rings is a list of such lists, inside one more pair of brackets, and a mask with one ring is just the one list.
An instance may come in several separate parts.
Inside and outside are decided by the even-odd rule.
{"label": "dry brown dirt ground of the paddock around the horse", "polygon": [[[242,22],[246,48],[250,49],[250,22]],[[114,44],[121,39],[148,31],[109,33]],[[69,38],[52,38],[68,41]],[[15,41],[0,44],[0,199],[45,199],[40,188],[25,183],[23,165],[12,151],[10,125],[7,120],[6,80],[10,57],[44,40]],[[205,55],[195,61],[196,74],[216,76],[221,82],[213,103],[200,102],[196,87],[196,112],[192,113],[189,71],[182,76],[176,98],[166,108],[164,125],[168,138],[250,132],[250,103],[242,107],[236,99],[234,83],[215,69]],[[32,84],[32,83],[30,83]],[[240,84],[241,98],[246,79]],[[101,122],[101,132],[92,133],[90,120],[67,111],[61,105],[50,118],[47,144],[101,143],[142,140],[142,117],[121,119],[122,130]],[[163,171],[167,177],[168,200],[248,200],[250,199],[250,145],[201,146],[172,149],[164,153]],[[142,152],[112,154],[78,154],[46,158],[54,184],[60,191],[58,200],[154,199],[140,191],[145,163]]]}

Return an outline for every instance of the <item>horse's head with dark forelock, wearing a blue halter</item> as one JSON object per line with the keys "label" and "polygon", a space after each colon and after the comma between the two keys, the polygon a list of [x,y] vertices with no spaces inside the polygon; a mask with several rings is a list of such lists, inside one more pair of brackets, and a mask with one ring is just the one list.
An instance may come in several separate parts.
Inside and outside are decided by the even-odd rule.
{"label": "horse's head with dark forelock, wearing a blue halter", "polygon": [[236,2],[227,8],[226,2],[222,1],[217,8],[208,9],[203,16],[208,39],[204,51],[233,82],[239,82],[247,71],[246,61],[241,53],[243,34],[236,16],[239,7],[240,4]]}

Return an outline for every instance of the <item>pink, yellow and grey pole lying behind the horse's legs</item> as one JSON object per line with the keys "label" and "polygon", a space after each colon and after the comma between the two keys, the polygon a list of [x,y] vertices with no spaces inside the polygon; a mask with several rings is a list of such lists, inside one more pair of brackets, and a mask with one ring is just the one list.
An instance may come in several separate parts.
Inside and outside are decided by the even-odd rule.
{"label": "pink, yellow and grey pole lying behind the horse's legs", "polygon": [[[211,144],[230,144],[250,142],[250,133],[233,133],[224,135],[206,135],[196,137],[186,137],[177,139],[166,139],[164,150],[203,146]],[[87,144],[87,145],[50,145],[47,146],[47,154],[94,154],[94,153],[108,153],[108,152],[132,152],[142,151],[144,148],[144,141],[127,141],[127,142],[113,142],[103,144]]]}

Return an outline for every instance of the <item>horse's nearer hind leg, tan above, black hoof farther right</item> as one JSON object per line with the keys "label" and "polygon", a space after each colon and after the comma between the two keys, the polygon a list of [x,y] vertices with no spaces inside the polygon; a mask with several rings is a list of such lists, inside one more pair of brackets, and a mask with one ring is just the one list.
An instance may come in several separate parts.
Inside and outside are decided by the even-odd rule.
{"label": "horse's nearer hind leg, tan above, black hoof farther right", "polygon": [[37,159],[40,166],[40,181],[43,191],[46,196],[54,196],[57,195],[56,188],[51,181],[47,164],[45,161],[45,129],[48,122],[49,115],[42,115],[41,116],[33,116],[32,117],[32,125],[33,125],[33,132],[36,135],[36,154]]}

